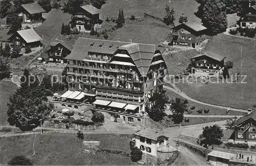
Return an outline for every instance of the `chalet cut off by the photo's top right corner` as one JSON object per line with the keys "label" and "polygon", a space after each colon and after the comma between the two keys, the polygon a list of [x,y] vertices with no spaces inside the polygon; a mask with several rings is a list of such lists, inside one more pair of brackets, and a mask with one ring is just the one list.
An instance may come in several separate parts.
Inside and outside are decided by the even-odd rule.
{"label": "chalet cut off by the photo's top right corner", "polygon": [[255,28],[256,27],[256,5],[251,6],[241,13],[240,26]]}

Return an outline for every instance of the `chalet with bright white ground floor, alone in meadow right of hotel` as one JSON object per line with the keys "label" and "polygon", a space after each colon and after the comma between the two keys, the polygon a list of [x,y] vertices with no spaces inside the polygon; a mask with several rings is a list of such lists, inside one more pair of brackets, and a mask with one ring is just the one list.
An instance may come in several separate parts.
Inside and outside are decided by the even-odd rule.
{"label": "chalet with bright white ground floor, alone in meadow right of hotel", "polygon": [[191,60],[191,73],[197,76],[219,76],[224,67],[224,59],[220,54],[205,52]]}

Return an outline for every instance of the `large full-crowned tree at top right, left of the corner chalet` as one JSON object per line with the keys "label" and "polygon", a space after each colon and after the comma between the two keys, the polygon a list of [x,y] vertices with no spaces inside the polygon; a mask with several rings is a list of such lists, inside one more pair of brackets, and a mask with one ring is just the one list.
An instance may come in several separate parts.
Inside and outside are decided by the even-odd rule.
{"label": "large full-crowned tree at top right, left of the corner chalet", "polygon": [[203,8],[203,24],[212,35],[223,33],[227,29],[227,16],[223,11],[224,4],[216,0],[208,0]]}

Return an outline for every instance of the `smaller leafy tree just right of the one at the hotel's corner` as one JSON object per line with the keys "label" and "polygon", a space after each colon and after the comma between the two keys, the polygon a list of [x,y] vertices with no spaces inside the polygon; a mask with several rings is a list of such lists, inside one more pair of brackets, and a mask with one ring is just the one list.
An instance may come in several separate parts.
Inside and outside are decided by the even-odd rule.
{"label": "smaller leafy tree just right of the one at the hotel's corner", "polygon": [[172,100],[172,104],[170,105],[170,110],[173,115],[170,115],[175,124],[180,124],[184,118],[184,112],[187,111],[188,101],[181,98],[175,98]]}

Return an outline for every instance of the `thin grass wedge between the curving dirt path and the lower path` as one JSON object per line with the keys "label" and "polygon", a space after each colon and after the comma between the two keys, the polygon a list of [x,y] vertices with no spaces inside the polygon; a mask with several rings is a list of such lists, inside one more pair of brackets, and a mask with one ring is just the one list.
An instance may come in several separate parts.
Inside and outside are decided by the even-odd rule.
{"label": "thin grass wedge between the curving dirt path and the lower path", "polygon": [[[178,98],[183,98],[181,97],[180,95],[172,92],[172,91],[167,91],[165,93],[166,96],[174,99],[176,97]],[[184,99],[184,98],[183,98]],[[195,106],[195,109],[194,110],[191,110],[190,108],[192,106]],[[222,108],[217,108],[217,107],[212,107],[212,106],[208,106],[208,105],[203,105],[203,104],[200,104],[200,103],[196,103],[196,102],[193,102],[193,101],[189,101],[188,100],[188,107],[187,107],[188,110],[191,110],[192,113],[190,115],[237,115],[237,116],[244,116],[244,115],[247,115],[247,113],[241,113],[241,112],[237,112],[237,111],[234,111],[234,110],[230,110],[228,112],[228,114],[226,113],[227,110],[226,109],[222,109]],[[209,113],[205,114],[204,112],[202,114],[199,114],[197,112],[197,110],[199,109],[209,109]],[[188,114],[187,112],[185,112],[185,114]],[[206,123],[206,122],[205,122]]]}

